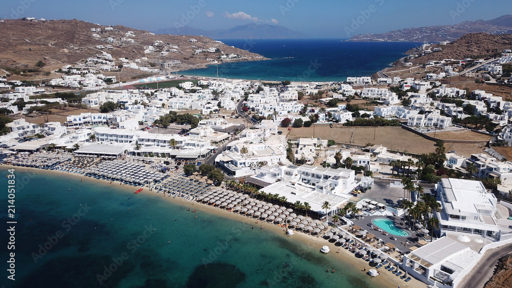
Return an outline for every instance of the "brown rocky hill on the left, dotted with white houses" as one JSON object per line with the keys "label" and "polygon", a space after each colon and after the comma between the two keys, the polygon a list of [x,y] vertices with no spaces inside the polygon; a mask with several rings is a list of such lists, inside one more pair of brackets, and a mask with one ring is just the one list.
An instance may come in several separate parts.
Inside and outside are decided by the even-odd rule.
{"label": "brown rocky hill on the left, dotted with white houses", "polygon": [[[92,28],[100,29],[93,32]],[[227,54],[239,55],[233,57],[232,61],[266,59],[259,54],[233,48],[207,37],[155,35],[124,26],[113,26],[111,31],[106,31],[105,28],[107,27],[76,19],[0,21],[0,68],[30,68],[39,60],[47,63],[49,67],[58,67],[102,54],[103,51],[116,59],[147,57],[147,62],[180,60],[183,64],[180,70],[204,67],[211,63],[211,59]],[[189,41],[191,38],[195,40]],[[107,45],[114,48],[96,48]],[[154,50],[145,53],[148,46],[152,46]],[[213,48],[215,52],[195,54],[196,50],[206,48]]]}

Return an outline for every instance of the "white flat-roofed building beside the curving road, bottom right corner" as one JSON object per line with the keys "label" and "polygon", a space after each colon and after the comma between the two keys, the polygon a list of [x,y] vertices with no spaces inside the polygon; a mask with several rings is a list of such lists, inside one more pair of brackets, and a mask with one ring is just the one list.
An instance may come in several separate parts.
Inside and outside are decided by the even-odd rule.
{"label": "white flat-roofed building beside the curving road, bottom right corner", "polygon": [[455,287],[480,258],[470,247],[441,237],[403,256],[402,270],[436,286]]}

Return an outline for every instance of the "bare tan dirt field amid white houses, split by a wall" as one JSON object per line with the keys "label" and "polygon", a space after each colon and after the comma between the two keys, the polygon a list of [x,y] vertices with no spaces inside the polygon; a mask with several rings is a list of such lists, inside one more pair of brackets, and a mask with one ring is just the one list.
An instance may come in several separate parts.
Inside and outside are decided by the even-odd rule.
{"label": "bare tan dirt field amid white houses, split by a wall", "polygon": [[[413,134],[400,127],[333,127],[329,125],[317,125],[316,127],[280,128],[283,134],[289,139],[298,139],[301,137],[320,137],[322,139],[332,139],[336,143],[366,146],[373,143],[382,145],[393,150],[407,151],[411,153],[429,153],[436,149],[435,142],[426,140],[416,134]],[[375,134],[375,139],[374,139]],[[437,136],[437,134],[436,134]],[[482,135],[483,136],[483,135]],[[456,150],[459,155],[466,157],[473,153],[482,152],[484,142],[479,144],[452,144],[446,143],[446,150]]]}

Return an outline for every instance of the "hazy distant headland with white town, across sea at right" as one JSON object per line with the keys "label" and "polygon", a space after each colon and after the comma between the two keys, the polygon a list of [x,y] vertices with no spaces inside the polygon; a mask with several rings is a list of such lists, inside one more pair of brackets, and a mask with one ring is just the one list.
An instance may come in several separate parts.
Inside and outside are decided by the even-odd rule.
{"label": "hazy distant headland with white town, across sea at right", "polygon": [[469,33],[510,34],[512,15],[492,20],[464,21],[456,25],[404,28],[382,34],[359,34],[347,41],[441,42],[454,41]]}

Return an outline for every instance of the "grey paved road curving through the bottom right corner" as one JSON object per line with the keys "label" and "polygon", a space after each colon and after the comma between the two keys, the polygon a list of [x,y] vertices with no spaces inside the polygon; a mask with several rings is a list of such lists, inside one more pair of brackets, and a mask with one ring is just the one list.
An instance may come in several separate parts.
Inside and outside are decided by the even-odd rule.
{"label": "grey paved road curving through the bottom right corner", "polygon": [[487,251],[478,264],[461,282],[465,288],[480,288],[493,276],[498,259],[512,251],[512,244]]}

